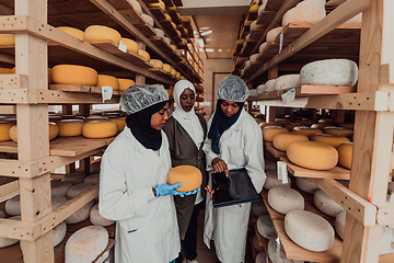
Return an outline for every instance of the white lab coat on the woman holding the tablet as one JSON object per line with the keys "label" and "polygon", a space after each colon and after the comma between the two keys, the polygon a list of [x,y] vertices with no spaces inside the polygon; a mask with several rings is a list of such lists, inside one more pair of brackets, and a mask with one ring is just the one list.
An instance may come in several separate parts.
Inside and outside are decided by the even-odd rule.
{"label": "white lab coat on the woman holding the tablet", "polygon": [[[245,168],[259,193],[266,180],[262,129],[245,110],[241,111],[239,119],[219,139],[220,155],[212,151],[211,140],[206,139],[202,149],[207,158],[207,171],[215,172],[211,162],[219,157],[228,164],[229,170]],[[208,122],[208,129],[212,118],[213,115]],[[209,185],[211,185],[210,180]],[[209,248],[210,240],[213,239],[216,252],[221,262],[243,262],[251,203],[213,209],[209,193],[207,194],[205,243]]]}

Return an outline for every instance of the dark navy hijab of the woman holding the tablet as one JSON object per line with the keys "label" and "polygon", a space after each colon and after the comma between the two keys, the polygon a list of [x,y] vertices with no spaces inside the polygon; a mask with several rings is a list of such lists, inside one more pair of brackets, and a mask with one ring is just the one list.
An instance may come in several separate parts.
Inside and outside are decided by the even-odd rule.
{"label": "dark navy hijab of the woman holding the tablet", "polygon": [[236,102],[236,104],[240,106],[240,110],[231,117],[228,117],[220,107],[223,102],[224,100],[218,100],[215,116],[208,133],[208,138],[211,139],[212,150],[217,155],[220,153],[219,139],[221,135],[239,119],[244,104],[243,102]]}

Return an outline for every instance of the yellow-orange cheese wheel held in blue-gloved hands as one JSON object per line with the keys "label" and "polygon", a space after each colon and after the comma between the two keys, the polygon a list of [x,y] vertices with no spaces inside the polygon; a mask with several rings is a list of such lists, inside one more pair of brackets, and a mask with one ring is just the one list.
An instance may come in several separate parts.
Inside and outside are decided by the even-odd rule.
{"label": "yellow-orange cheese wheel held in blue-gloved hands", "polygon": [[198,188],[202,182],[202,175],[198,168],[192,165],[178,165],[170,170],[169,184],[182,183],[176,191],[188,192]]}

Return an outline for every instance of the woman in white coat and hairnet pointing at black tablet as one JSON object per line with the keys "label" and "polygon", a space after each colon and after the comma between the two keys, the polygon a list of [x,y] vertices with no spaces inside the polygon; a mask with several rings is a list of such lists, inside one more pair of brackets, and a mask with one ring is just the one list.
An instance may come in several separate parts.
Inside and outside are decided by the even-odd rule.
{"label": "woman in white coat and hairnet pointing at black tablet", "polygon": [[[225,77],[218,87],[217,108],[208,122],[204,145],[207,170],[225,172],[245,168],[256,192],[265,183],[262,129],[243,108],[248,96],[245,82],[235,76]],[[211,182],[209,182],[211,185]],[[217,256],[224,263],[244,261],[251,203],[213,208],[212,190],[207,186],[204,241],[213,239]]]}

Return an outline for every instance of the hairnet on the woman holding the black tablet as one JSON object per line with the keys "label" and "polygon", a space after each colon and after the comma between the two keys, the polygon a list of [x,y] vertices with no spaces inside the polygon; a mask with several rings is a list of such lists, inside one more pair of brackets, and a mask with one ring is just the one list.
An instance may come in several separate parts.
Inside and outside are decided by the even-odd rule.
{"label": "hairnet on the woman holding the black tablet", "polygon": [[220,100],[244,102],[248,94],[250,91],[245,82],[240,77],[233,75],[224,77],[218,87],[218,98]]}

